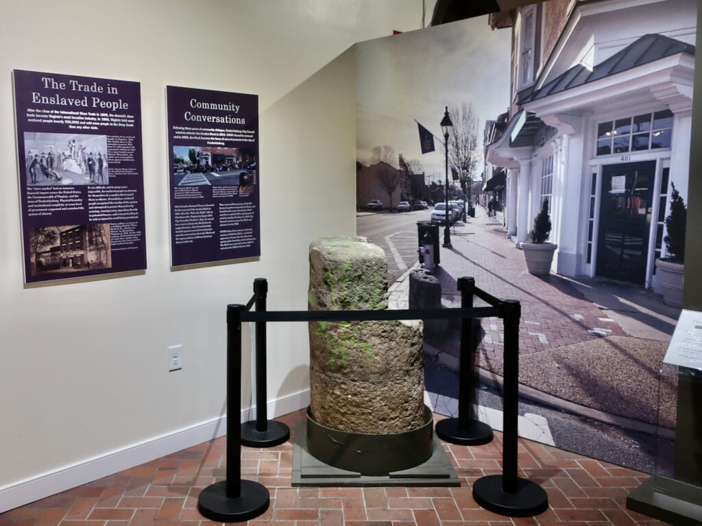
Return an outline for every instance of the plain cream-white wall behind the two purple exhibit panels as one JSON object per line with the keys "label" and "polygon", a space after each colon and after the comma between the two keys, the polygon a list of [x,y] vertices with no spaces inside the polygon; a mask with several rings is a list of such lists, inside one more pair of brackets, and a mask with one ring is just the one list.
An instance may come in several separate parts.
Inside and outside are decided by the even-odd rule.
{"label": "plain cream-white wall behind the two purple exhibit panels", "polygon": [[[419,27],[422,2],[0,6],[1,498],[21,481],[223,416],[227,303],[246,303],[253,279],[266,277],[268,308],[305,309],[307,246],[355,233],[354,61],[344,51]],[[140,81],[145,274],[23,287],[13,69]],[[260,96],[260,261],[169,270],[168,84]],[[271,326],[268,335],[269,400],[306,390],[305,324]],[[183,370],[168,373],[166,348],[176,343]],[[244,405],[250,397],[244,386]],[[0,511],[19,504],[0,501]]]}

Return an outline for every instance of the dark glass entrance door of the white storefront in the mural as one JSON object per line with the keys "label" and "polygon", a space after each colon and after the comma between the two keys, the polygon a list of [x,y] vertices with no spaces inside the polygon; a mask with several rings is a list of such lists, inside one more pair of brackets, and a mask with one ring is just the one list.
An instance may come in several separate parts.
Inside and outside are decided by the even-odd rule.
{"label": "dark glass entrance door of the white storefront in the mural", "polygon": [[656,162],[602,167],[598,276],[644,284]]}

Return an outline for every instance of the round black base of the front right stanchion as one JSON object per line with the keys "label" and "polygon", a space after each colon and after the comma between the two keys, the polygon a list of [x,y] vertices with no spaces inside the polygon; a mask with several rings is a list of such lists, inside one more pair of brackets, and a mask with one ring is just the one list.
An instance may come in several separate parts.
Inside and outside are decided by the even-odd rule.
{"label": "round black base of the front right stanchion", "polygon": [[479,478],[473,484],[473,499],[488,511],[508,517],[534,517],[548,510],[548,494],[543,487],[517,478],[517,491],[505,493],[503,475]]}

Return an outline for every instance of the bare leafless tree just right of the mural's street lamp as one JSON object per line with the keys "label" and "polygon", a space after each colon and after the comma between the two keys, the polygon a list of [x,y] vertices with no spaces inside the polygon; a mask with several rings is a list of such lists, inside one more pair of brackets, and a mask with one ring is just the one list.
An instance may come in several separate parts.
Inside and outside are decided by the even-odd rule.
{"label": "bare leafless tree just right of the mural's street lamp", "polygon": [[472,177],[482,161],[478,117],[472,105],[465,103],[461,107],[449,107],[449,114],[453,121],[449,135],[449,164],[458,174],[463,194],[471,199]]}

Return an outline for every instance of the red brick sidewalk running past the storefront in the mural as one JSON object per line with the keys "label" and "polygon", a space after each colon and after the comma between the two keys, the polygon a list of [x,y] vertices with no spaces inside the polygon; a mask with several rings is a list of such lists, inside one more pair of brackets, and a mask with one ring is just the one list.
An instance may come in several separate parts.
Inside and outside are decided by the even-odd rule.
{"label": "red brick sidewalk running past the storefront in the mural", "polygon": [[[453,249],[441,249],[442,264],[435,273],[442,284],[444,303],[460,306],[456,280],[463,276],[474,277],[477,287],[497,298],[518,300],[522,305],[520,355],[602,336],[626,335],[567,279],[555,274],[529,274],[524,254],[505,237],[505,229],[494,219],[479,214],[459,226],[451,242]],[[476,298],[475,306],[482,305],[485,303]],[[485,318],[482,327],[482,360],[501,362],[502,320]]]}

